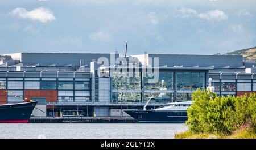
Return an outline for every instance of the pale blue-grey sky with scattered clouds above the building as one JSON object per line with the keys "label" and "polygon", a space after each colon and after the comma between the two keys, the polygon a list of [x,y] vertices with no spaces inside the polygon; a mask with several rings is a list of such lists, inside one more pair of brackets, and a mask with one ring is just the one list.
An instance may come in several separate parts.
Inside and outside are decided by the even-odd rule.
{"label": "pale blue-grey sky with scattered clouds above the building", "polygon": [[0,54],[215,54],[256,46],[255,0],[1,0]]}

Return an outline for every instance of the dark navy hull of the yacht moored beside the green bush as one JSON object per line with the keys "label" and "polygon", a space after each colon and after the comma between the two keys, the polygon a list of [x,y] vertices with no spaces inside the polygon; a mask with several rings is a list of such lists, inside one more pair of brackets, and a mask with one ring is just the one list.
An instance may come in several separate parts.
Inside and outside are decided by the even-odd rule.
{"label": "dark navy hull of the yacht moored beside the green bush", "polygon": [[126,110],[140,123],[185,123],[187,111]]}

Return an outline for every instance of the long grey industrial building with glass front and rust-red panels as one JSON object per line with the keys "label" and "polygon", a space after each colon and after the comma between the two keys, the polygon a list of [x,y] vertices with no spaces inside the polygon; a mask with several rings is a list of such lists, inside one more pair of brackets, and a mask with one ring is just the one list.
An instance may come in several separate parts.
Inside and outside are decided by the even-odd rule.
{"label": "long grey industrial building with glass front and rust-red panels", "polygon": [[254,65],[241,55],[3,54],[0,104],[39,101],[32,114],[40,117],[126,116],[123,110],[142,108],[150,96],[148,109],[191,100],[209,77],[218,95],[256,92]]}

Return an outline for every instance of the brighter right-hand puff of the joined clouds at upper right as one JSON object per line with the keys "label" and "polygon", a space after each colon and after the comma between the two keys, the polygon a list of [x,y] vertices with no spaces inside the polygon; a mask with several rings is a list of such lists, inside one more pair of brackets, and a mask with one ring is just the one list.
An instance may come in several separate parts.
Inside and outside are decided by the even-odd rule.
{"label": "brighter right-hand puff of the joined clouds at upper right", "polygon": [[221,10],[210,10],[205,13],[198,14],[197,17],[207,19],[207,20],[225,20],[228,16]]}

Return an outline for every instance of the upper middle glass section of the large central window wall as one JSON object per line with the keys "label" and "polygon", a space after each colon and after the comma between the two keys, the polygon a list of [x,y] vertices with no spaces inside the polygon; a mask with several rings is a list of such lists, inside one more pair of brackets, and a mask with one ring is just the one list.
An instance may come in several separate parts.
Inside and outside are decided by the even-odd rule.
{"label": "upper middle glass section of the large central window wall", "polygon": [[[148,75],[147,75],[148,76]],[[173,90],[174,72],[159,72],[158,82],[151,82],[149,77],[144,77],[144,89],[148,90]]]}

